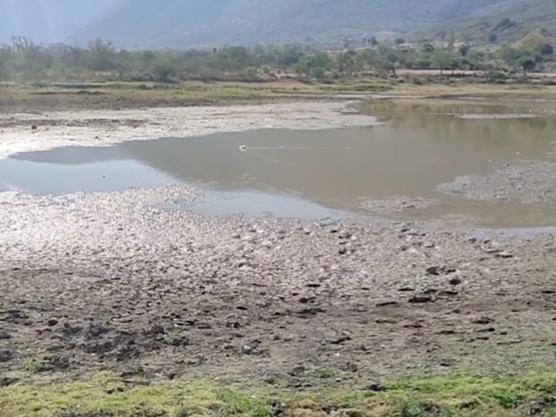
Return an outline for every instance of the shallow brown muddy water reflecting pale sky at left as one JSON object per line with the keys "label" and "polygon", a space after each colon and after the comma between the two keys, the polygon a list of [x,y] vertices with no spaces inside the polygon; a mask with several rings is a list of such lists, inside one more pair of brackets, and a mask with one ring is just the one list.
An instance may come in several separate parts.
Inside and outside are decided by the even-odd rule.
{"label": "shallow brown muddy water reflecting pale sky at left", "polygon": [[[199,138],[65,147],[0,161],[0,190],[73,193],[181,183],[197,186],[202,213],[409,219],[471,216],[486,227],[550,226],[556,207],[471,201],[436,188],[515,160],[551,161],[556,119],[468,104],[366,107],[384,124],[264,129]],[[245,149],[240,149],[240,145]]]}

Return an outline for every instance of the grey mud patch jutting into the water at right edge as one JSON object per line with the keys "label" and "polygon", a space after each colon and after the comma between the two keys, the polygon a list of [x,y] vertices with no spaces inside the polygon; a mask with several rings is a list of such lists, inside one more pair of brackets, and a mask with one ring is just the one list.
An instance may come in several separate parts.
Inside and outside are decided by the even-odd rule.
{"label": "grey mud patch jutting into the water at right edge", "polygon": [[492,174],[466,175],[436,189],[441,193],[483,201],[556,202],[556,163],[516,161]]}

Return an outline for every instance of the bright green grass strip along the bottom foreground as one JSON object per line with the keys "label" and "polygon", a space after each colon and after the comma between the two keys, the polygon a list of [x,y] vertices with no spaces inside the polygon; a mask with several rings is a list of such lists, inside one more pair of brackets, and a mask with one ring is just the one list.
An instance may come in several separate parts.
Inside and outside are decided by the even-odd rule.
{"label": "bright green grass strip along the bottom foreground", "polygon": [[556,413],[556,371],[452,375],[368,386],[288,389],[202,380],[144,382],[109,373],[25,377],[0,390],[0,416],[530,416]]}

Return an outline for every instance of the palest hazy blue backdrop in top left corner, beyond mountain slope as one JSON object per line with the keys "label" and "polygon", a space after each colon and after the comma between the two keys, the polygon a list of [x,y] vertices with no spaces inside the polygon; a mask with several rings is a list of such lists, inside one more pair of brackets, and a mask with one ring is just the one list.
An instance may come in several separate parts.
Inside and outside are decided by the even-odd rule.
{"label": "palest hazy blue backdrop in top left corner, beyond mountain slope", "polygon": [[59,42],[121,0],[0,0],[0,41],[26,36],[34,42]]}

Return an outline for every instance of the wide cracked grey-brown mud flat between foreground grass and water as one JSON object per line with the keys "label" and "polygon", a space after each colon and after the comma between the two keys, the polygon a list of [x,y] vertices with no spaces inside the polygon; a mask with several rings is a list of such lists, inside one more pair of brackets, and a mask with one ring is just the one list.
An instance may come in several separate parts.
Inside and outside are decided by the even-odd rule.
{"label": "wide cracked grey-brown mud flat between foreground grass and water", "polygon": [[194,198],[0,194],[0,369],[319,386],[553,358],[552,237],[153,208]]}

